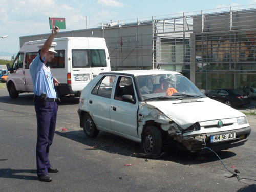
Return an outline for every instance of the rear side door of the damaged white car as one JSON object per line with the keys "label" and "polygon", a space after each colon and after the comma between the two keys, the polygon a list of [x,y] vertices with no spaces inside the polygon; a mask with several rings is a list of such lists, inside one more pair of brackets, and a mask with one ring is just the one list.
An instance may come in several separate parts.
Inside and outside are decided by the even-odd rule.
{"label": "rear side door of the damaged white car", "polygon": [[115,76],[103,76],[88,96],[88,108],[96,126],[111,129],[110,102]]}

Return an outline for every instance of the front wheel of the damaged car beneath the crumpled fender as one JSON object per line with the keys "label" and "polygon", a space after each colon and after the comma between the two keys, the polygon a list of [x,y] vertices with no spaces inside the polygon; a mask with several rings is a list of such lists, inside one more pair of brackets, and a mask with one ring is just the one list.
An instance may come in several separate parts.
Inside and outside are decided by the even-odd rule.
{"label": "front wheel of the damaged car beneath the crumpled fender", "polygon": [[162,134],[156,126],[147,126],[143,131],[142,153],[154,158],[159,156],[162,148]]}

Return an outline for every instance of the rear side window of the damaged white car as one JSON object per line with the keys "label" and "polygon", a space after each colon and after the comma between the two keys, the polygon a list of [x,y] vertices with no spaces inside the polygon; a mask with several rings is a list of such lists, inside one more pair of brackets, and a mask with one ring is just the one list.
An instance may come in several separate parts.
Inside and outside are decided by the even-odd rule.
{"label": "rear side window of the damaged white car", "polygon": [[102,77],[102,79],[94,87],[92,94],[110,99],[115,78],[115,76]]}

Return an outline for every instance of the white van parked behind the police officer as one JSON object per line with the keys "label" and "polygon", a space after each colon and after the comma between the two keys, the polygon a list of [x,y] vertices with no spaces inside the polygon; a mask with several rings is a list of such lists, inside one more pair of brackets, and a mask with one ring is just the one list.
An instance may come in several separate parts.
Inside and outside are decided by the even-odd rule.
{"label": "white van parked behind the police officer", "polygon": [[[38,54],[38,45],[46,40],[25,42],[20,48],[13,65],[7,65],[10,74],[7,89],[11,98],[19,93],[33,92],[29,65]],[[52,75],[58,79],[55,88],[61,99],[65,95],[79,95],[82,89],[99,73],[110,71],[109,52],[104,38],[64,37],[55,38],[54,59],[49,63]]]}

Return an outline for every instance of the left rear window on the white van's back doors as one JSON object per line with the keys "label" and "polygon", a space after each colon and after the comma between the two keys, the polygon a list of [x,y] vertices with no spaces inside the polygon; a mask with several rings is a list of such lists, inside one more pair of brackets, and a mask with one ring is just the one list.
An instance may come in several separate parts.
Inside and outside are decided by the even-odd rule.
{"label": "left rear window on the white van's back doors", "polygon": [[88,68],[89,50],[88,49],[72,49],[72,66],[73,68]]}

